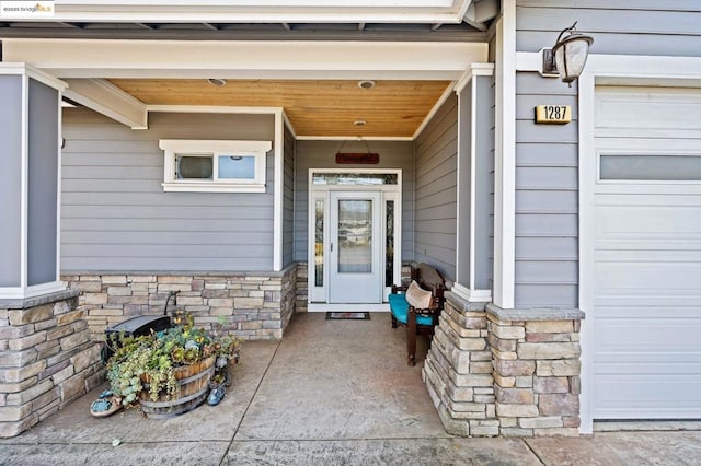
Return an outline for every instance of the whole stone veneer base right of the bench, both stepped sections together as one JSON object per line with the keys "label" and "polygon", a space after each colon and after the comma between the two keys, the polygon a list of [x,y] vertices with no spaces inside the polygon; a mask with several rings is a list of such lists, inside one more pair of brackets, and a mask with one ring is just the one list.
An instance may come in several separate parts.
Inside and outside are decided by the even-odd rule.
{"label": "whole stone veneer base right of the bench, both stepped sections together", "polygon": [[578,310],[509,311],[447,293],[423,370],[446,431],[577,435],[582,318]]}

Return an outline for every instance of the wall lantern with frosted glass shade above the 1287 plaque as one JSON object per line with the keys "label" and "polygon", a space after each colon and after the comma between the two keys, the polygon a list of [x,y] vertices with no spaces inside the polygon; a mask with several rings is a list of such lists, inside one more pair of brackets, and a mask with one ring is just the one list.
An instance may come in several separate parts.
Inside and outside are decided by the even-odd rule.
{"label": "wall lantern with frosted glass shade above the 1287 plaque", "polygon": [[[562,30],[552,48],[543,48],[543,75],[560,75],[562,82],[572,86],[584,70],[594,38],[575,31],[575,23]],[[566,35],[565,35],[566,34]]]}

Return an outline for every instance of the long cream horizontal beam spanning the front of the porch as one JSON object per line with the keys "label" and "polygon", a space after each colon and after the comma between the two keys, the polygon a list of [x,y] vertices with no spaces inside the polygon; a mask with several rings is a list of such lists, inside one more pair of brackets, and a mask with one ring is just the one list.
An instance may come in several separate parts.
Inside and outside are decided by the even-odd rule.
{"label": "long cream horizontal beam spanning the front of the porch", "polygon": [[[8,61],[59,78],[459,79],[486,43],[3,39]],[[348,57],[353,57],[348,59]]]}

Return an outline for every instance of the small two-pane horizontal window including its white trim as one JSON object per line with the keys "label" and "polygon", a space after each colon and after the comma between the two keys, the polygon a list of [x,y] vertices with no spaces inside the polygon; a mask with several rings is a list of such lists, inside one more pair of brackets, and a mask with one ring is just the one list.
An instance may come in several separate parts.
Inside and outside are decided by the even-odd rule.
{"label": "small two-pane horizontal window including its white trim", "polygon": [[271,141],[161,139],[159,145],[165,191],[265,193]]}

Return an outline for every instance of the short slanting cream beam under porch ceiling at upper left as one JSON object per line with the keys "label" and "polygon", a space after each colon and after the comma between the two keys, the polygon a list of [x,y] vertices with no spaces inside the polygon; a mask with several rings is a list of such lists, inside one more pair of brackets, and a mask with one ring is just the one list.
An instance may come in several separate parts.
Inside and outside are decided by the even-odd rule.
{"label": "short slanting cream beam under porch ceiling at upper left", "polygon": [[146,104],[103,79],[67,79],[64,95],[131,129],[148,128]]}

